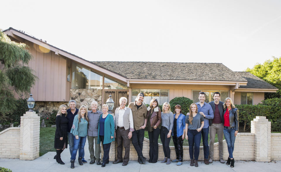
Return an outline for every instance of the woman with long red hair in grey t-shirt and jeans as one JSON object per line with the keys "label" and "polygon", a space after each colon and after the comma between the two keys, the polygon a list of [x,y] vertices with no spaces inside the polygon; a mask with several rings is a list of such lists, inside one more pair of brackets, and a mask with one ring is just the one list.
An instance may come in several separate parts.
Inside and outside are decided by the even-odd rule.
{"label": "woman with long red hair in grey t-shirt and jeans", "polygon": [[[204,117],[198,112],[198,107],[192,103],[189,108],[189,115],[185,118],[185,138],[189,144],[190,166],[198,167],[199,147],[201,142],[201,130],[204,126]],[[193,160],[194,147],[194,160]]]}

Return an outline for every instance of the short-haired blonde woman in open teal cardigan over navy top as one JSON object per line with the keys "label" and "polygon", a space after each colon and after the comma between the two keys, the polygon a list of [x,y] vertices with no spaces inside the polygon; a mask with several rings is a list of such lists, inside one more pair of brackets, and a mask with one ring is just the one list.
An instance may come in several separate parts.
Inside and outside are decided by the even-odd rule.
{"label": "short-haired blonde woman in open teal cardigan over navy top", "polygon": [[102,167],[109,163],[109,150],[111,142],[114,141],[114,121],[113,116],[108,111],[108,105],[102,105],[102,115],[100,115],[97,143],[102,142],[103,158]]}

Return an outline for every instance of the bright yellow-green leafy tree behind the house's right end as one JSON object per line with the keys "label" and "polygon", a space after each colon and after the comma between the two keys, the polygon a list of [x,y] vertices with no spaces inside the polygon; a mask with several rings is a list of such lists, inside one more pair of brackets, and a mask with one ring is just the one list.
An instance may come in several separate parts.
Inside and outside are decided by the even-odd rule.
{"label": "bright yellow-green leafy tree behind the house's right end", "polygon": [[272,58],[272,60],[269,59],[263,64],[256,64],[253,69],[246,69],[246,71],[251,72],[279,89],[276,93],[265,93],[265,99],[280,98],[281,96],[281,57],[273,56]]}

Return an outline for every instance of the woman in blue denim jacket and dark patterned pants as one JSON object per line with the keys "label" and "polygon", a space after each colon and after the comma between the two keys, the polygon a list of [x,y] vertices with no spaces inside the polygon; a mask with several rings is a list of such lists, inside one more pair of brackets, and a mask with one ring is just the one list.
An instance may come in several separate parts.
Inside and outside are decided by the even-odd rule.
{"label": "woman in blue denim jacket and dark patterned pants", "polygon": [[182,145],[184,143],[185,133],[185,115],[181,113],[181,105],[175,106],[174,126],[172,129],[173,142],[175,146],[177,159],[172,162],[178,162],[177,166],[182,164],[184,151]]}

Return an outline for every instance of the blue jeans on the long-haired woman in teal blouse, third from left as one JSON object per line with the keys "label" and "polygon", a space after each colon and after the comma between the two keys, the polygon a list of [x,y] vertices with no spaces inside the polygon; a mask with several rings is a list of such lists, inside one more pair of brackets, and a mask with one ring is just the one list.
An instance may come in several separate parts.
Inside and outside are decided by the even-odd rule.
{"label": "blue jeans on the long-haired woman in teal blouse, third from left", "polygon": [[73,135],[73,142],[74,142],[74,146],[73,146],[73,151],[71,154],[71,159],[76,159],[76,154],[77,154],[77,150],[79,149],[79,153],[78,153],[78,157],[82,157],[82,159],[84,158],[84,146],[86,143],[86,139],[87,136],[85,137],[78,137],[78,139],[75,138],[75,136]]}

